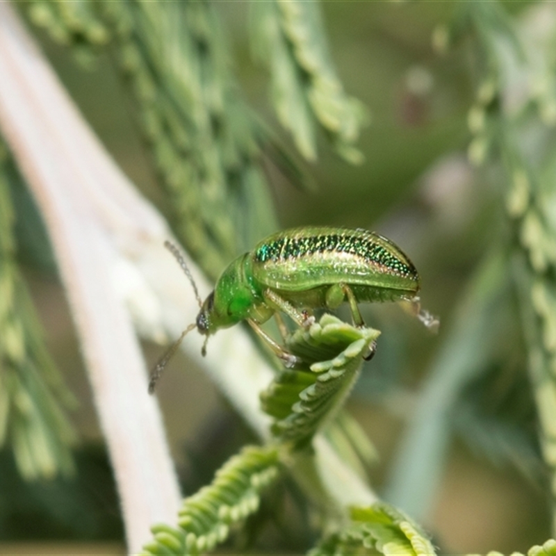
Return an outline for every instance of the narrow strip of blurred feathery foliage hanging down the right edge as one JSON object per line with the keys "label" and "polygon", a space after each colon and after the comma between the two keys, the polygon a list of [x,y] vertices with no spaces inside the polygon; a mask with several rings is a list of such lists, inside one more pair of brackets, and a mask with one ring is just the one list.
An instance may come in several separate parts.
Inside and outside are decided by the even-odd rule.
{"label": "narrow strip of blurred feathery foliage hanging down the right edge", "polygon": [[[466,17],[469,31],[477,36],[481,60],[477,101],[469,113],[475,135],[469,156],[477,164],[498,161],[505,171],[505,207],[513,231],[507,265],[518,292],[543,457],[555,477],[556,89],[548,49],[556,28],[534,44],[523,40],[526,28],[520,34],[497,4],[480,3]],[[485,58],[488,63],[483,67]],[[526,79],[528,73],[527,90],[512,99],[513,80]],[[554,480],[550,482],[554,485]],[[556,502],[553,512],[556,520]]]}

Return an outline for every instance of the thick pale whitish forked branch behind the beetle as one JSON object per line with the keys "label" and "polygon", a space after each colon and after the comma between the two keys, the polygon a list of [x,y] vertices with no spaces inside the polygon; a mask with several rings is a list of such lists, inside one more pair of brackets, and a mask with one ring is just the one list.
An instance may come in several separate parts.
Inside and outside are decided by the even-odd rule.
{"label": "thick pale whitish forked branch behind the beetle", "polygon": [[[8,3],[0,3],[0,132],[49,231],[135,553],[152,523],[175,521],[180,493],[133,324],[151,338],[177,337],[195,318],[197,302],[163,247],[171,238],[167,224],[100,145]],[[243,329],[211,338],[204,360],[200,341],[185,344],[265,438],[269,419],[259,392],[272,371]],[[375,500],[323,439],[316,450],[333,497],[344,504]]]}

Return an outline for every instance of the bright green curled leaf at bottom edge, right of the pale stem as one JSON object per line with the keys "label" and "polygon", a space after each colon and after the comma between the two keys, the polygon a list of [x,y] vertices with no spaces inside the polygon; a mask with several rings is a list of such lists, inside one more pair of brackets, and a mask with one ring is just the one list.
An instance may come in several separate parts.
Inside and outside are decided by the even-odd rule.
{"label": "bright green curled leaf at bottom edge, right of the pale stem", "polygon": [[309,551],[309,556],[432,556],[429,537],[394,507],[379,502],[354,507],[351,522]]}

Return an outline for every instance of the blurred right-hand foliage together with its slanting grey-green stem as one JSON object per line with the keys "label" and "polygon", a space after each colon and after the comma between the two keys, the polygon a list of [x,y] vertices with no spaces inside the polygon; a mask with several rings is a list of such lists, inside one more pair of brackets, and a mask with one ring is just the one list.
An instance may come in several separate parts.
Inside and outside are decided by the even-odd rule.
{"label": "blurred right-hand foliage together with its slanting grey-green stem", "polygon": [[[553,22],[548,13],[544,15]],[[448,423],[459,430],[474,427],[464,430],[473,448],[496,461],[512,461],[529,477],[539,477],[538,439],[531,419],[536,412],[543,459],[551,473],[555,470],[556,91],[551,47],[556,28],[551,23],[533,37],[532,19],[525,14],[520,22],[513,21],[496,2],[461,3],[452,22],[439,26],[433,35],[435,47],[444,54],[461,44],[473,54],[475,102],[468,111],[472,134],[468,158],[473,165],[502,175],[497,193],[506,221],[502,233],[494,229],[485,234],[491,245],[468,295],[459,303],[457,324],[445,336],[394,468],[389,500],[416,516],[426,514],[434,496],[450,434]],[[507,338],[516,338],[514,345],[525,342],[529,384],[509,389],[512,411],[500,411],[480,425],[470,418],[470,410],[477,414],[480,407],[469,401],[479,399],[479,386],[482,398],[493,398],[493,389],[489,390],[493,381],[484,376],[493,368],[511,367],[515,357],[513,349],[497,351],[500,338],[506,338],[506,345]],[[523,376],[514,373],[512,380],[523,386]],[[517,408],[521,419],[516,418]],[[477,425],[480,434],[470,434]]]}

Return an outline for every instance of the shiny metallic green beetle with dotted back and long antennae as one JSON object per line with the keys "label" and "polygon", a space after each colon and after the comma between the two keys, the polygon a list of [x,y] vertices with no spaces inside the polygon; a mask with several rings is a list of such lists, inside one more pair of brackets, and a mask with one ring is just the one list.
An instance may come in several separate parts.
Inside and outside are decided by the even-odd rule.
{"label": "shiny metallic green beetle with dotted back and long antennae", "polygon": [[[247,320],[286,366],[294,366],[297,358],[260,327],[273,315],[284,334],[279,313],[308,327],[314,322],[311,309],[336,309],[347,301],[354,324],[363,326],[360,302],[407,301],[427,327],[438,324],[429,313],[420,311],[420,281],[413,263],[391,240],[371,231],[332,227],[280,231],[232,261],[204,302],[177,248],[169,242],[165,245],[193,284],[201,310],[196,322],[154,369],[149,391],[154,390],[156,379],[183,336],[193,328],[208,338],[221,328]],[[205,346],[203,354],[204,350]]]}

